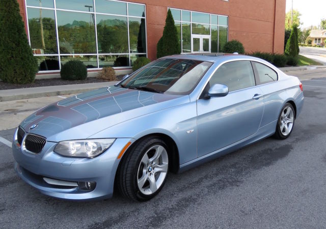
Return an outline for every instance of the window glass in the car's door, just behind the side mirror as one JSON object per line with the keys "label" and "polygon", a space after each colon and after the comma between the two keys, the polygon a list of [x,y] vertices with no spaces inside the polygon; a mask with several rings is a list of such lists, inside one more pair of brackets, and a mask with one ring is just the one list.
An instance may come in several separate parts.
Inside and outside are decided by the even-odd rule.
{"label": "window glass in the car's door, just behind the side mirror", "polygon": [[209,80],[210,87],[215,83],[227,85],[229,92],[255,86],[250,61],[233,61],[220,66]]}

